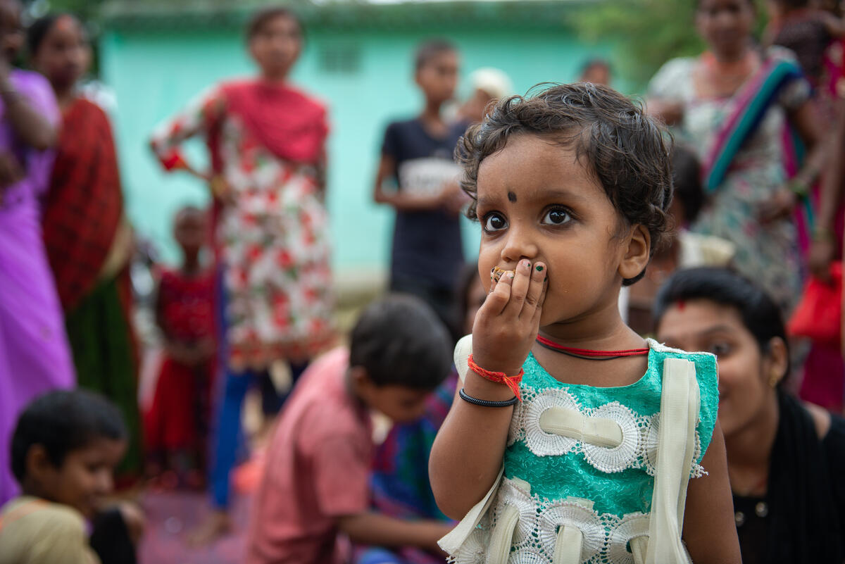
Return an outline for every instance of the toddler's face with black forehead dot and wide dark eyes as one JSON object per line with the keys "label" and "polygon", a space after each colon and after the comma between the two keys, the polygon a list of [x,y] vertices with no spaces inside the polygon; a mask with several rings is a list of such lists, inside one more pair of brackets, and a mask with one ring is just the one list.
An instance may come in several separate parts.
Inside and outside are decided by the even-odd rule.
{"label": "toddler's face with black forehead dot and wide dark eyes", "polygon": [[513,270],[526,258],[548,266],[541,327],[617,307],[627,249],[621,220],[572,149],[536,135],[512,137],[482,161],[477,187],[478,272],[487,290],[491,268]]}

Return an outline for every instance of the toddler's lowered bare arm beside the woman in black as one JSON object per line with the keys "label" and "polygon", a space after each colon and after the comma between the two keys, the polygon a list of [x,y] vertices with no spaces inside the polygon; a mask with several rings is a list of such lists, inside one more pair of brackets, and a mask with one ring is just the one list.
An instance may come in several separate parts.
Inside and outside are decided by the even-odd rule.
{"label": "toddler's lowered bare arm beside the woman in black", "polygon": [[701,465],[707,474],[690,480],[687,486],[684,543],[695,564],[740,564],[728,458],[718,421]]}

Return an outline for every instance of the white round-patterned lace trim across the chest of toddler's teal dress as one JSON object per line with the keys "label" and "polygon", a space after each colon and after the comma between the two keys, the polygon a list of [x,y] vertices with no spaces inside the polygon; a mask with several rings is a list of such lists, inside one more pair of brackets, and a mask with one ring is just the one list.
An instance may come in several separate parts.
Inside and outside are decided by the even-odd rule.
{"label": "white round-patterned lace trim across the chest of toddler's teal dress", "polygon": [[[517,404],[510,421],[508,446],[523,441],[537,456],[564,456],[581,454],[595,469],[613,474],[626,469],[644,469],[648,475],[657,472],[657,442],[660,436],[660,413],[638,415],[619,402],[584,408],[568,388],[547,388],[537,392],[531,386],[523,385],[522,402]],[[573,409],[586,417],[613,420],[622,431],[622,442],[618,447],[600,447],[572,437],[563,437],[543,431],[540,416],[551,408]],[[695,432],[695,457],[690,476],[706,475],[701,464],[695,462],[701,457],[701,437]]]}

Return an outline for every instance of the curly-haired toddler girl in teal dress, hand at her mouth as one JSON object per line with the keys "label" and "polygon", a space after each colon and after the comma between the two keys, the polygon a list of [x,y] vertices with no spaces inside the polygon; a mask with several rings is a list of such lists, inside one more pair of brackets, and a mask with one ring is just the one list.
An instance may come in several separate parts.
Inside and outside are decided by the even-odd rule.
{"label": "curly-haired toddler girl in teal dress, hand at her mouth", "polygon": [[594,84],[503,100],[463,138],[489,294],[430,460],[440,508],[466,515],[452,561],[740,561],[715,358],[643,340],[617,306],[667,236],[668,149]]}

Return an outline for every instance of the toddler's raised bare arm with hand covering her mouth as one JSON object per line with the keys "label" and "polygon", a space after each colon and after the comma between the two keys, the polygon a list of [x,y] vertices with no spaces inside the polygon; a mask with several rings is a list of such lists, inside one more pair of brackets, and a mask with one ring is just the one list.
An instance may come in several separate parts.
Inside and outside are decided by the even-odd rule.
{"label": "toddler's raised bare arm with hand covering her mouth", "polygon": [[[504,274],[478,310],[472,327],[472,357],[478,366],[509,376],[521,370],[537,337],[546,291],[545,271],[533,266],[522,261],[515,277]],[[478,399],[504,401],[514,396],[510,388],[473,371],[467,371],[463,387]],[[463,518],[493,485],[512,415],[510,407],[480,407],[455,397],[428,464],[434,499],[450,518]]]}

